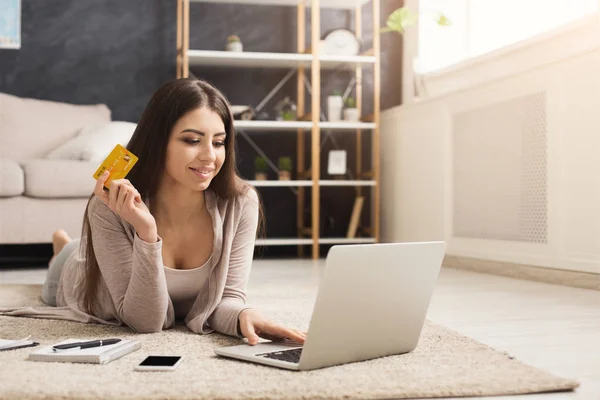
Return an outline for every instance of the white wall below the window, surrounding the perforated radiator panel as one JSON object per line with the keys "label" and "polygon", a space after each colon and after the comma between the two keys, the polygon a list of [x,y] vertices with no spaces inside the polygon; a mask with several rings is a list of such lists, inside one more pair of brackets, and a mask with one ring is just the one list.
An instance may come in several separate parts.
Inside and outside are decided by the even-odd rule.
{"label": "white wall below the window, surrounding the perforated radiator panel", "polygon": [[[405,87],[410,87],[409,81],[404,82]],[[427,87],[427,100],[412,101],[382,113],[382,240],[443,239],[448,243],[449,255],[600,273],[597,19],[589,18],[541,39],[431,75]],[[493,109],[534,94],[545,99],[544,241],[455,235],[453,166],[464,161],[453,159],[462,154],[453,151],[454,141],[462,137],[453,125],[457,116],[486,107]],[[516,118],[510,111],[507,113],[507,118]],[[497,125],[490,123],[492,132]],[[502,135],[500,132],[494,134]],[[515,168],[514,163],[507,161],[514,157],[502,156],[502,152],[511,151],[509,147],[497,148],[499,155],[492,165],[498,167],[494,172],[501,175]],[[489,168],[481,157],[469,157],[469,162],[474,171],[486,165]],[[490,221],[519,217],[515,214],[518,208],[494,210],[498,215]]]}

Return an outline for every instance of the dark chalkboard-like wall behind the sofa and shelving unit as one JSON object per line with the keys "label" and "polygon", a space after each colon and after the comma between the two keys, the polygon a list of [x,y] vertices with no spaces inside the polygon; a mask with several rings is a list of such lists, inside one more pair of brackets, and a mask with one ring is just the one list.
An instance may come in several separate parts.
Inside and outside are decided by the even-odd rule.
{"label": "dark chalkboard-like wall behind the sofa and shelving unit", "polygon": [[[382,1],[381,26],[387,14],[401,4],[400,0]],[[371,18],[369,3],[363,10],[365,49],[370,47],[372,40]],[[321,32],[342,27],[353,29],[353,22],[350,12],[323,10]],[[310,23],[310,13],[307,13],[307,23]],[[191,4],[190,48],[222,50],[230,34],[242,38],[246,51],[293,52],[296,49],[296,10],[291,7]],[[175,0],[22,0],[22,47],[20,50],[0,50],[0,91],[76,104],[105,103],[112,110],[113,120],[137,122],[152,93],[165,81],[175,78],[175,41]],[[382,109],[401,103],[401,52],[399,36],[382,36]],[[373,76],[370,70],[365,71],[364,93],[370,94]],[[257,105],[287,71],[192,67],[191,72],[216,85],[231,103]],[[344,89],[351,76],[347,72],[323,71],[322,103],[325,104],[325,95],[331,90]],[[293,78],[265,109],[272,111],[282,96],[295,98],[295,90]],[[307,105],[310,106],[310,101]],[[367,95],[364,112],[372,112],[372,99]],[[368,165],[370,140],[368,134],[363,136],[363,164]],[[252,133],[252,138],[273,160],[279,156],[295,158],[296,136],[293,133]],[[354,135],[335,133],[333,138],[337,145],[347,148],[348,163],[353,166]],[[310,149],[308,144],[307,149]],[[323,167],[327,150],[332,148],[333,141],[327,140],[323,146]],[[238,149],[240,172],[251,178],[256,153],[241,137],[238,137]],[[309,160],[307,154],[307,163]],[[274,174],[271,177],[274,179]],[[261,193],[268,235],[295,236],[296,197],[292,191],[263,188]],[[322,189],[323,218],[327,221],[324,234],[345,234],[353,196],[350,188]],[[368,222],[368,213],[363,214],[364,221]],[[309,217],[307,211],[307,222]],[[291,247],[270,247],[262,254],[281,256],[295,252]]]}

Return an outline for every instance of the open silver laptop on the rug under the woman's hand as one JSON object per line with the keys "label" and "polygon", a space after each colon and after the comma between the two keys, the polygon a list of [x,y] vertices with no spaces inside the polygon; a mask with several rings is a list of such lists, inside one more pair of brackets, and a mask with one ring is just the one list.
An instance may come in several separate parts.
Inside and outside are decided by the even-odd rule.
{"label": "open silver laptop on the rug under the woman's hand", "polygon": [[333,246],[303,346],[272,341],[215,353],[311,370],[410,352],[417,347],[444,253],[444,242]]}

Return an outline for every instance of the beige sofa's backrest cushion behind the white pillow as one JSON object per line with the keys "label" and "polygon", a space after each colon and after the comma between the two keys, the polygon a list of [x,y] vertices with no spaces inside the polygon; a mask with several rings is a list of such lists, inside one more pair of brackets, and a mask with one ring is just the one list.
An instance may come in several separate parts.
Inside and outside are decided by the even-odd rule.
{"label": "beige sofa's backrest cushion behind the white pillow", "polygon": [[0,93],[0,157],[42,158],[83,127],[108,121],[105,104],[75,105]]}

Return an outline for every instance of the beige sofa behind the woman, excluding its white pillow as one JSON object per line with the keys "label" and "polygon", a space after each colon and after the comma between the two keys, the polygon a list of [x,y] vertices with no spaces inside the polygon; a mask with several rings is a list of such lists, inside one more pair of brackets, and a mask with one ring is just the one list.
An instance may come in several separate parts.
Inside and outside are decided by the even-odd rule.
{"label": "beige sofa behind the woman, excluding its white pillow", "polygon": [[81,235],[98,161],[49,159],[82,128],[111,121],[104,104],[73,105],[0,93],[0,244]]}

